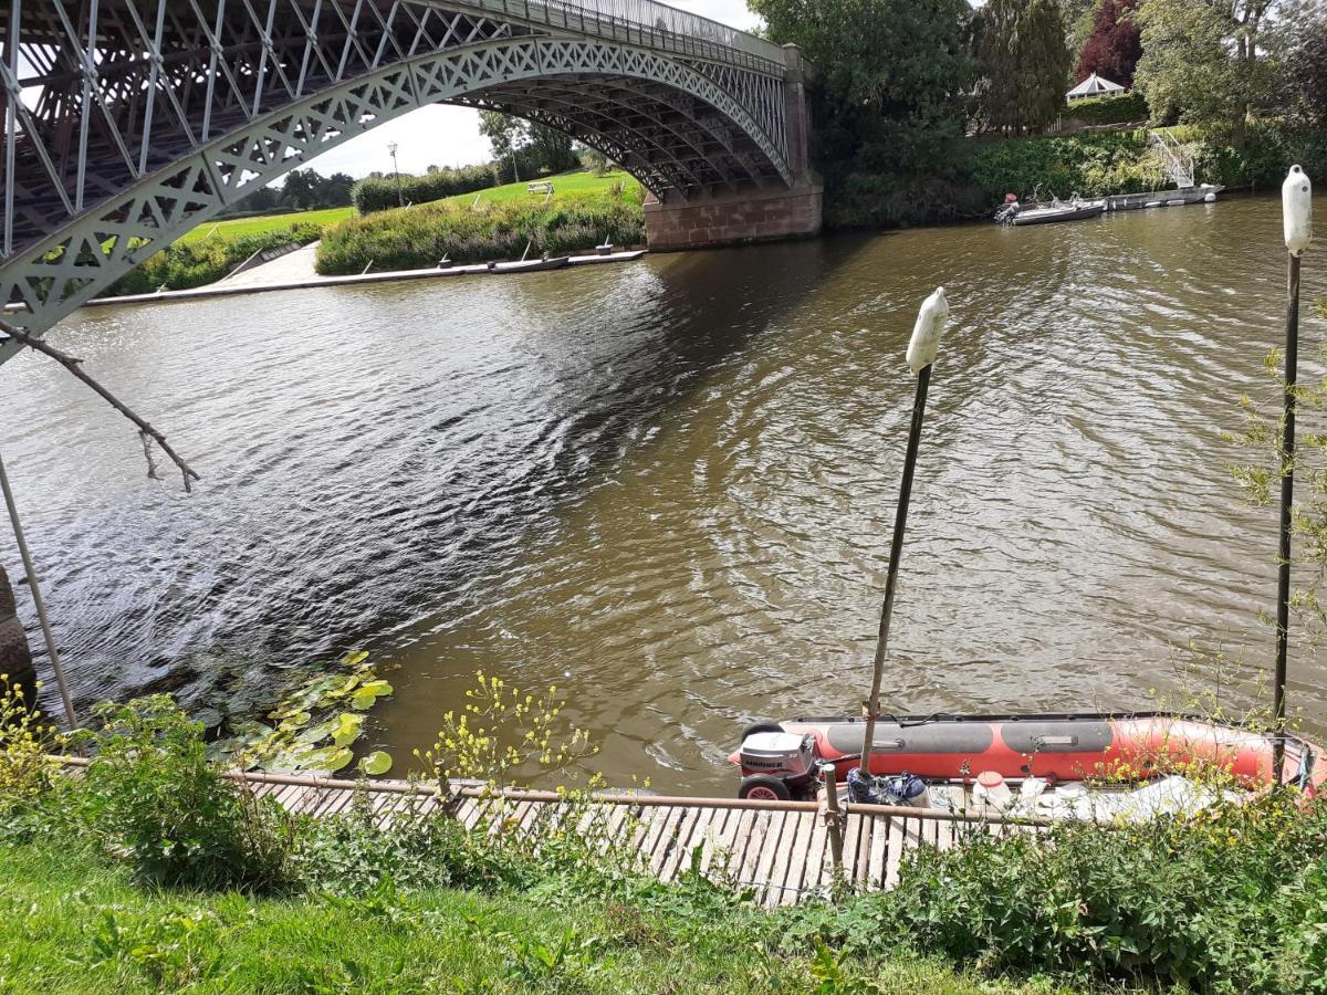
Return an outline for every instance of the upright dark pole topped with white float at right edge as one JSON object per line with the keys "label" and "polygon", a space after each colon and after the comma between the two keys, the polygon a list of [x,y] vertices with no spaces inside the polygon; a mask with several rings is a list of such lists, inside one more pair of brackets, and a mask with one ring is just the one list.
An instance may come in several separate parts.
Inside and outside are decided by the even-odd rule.
{"label": "upright dark pole topped with white float at right edge", "polygon": [[1295,386],[1299,375],[1299,263],[1314,240],[1314,184],[1299,166],[1291,166],[1281,184],[1281,212],[1290,251],[1286,287],[1286,391],[1281,429],[1281,547],[1277,577],[1277,679],[1273,686],[1271,776],[1279,784],[1286,756],[1286,657],[1290,650],[1290,527],[1295,500]]}

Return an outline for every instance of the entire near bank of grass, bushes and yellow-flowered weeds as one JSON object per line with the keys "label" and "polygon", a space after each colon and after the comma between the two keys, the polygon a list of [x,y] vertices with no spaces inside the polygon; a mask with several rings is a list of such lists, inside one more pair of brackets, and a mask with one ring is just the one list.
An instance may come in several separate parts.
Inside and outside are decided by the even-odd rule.
{"label": "entire near bank of grass, bushes and yellow-flowered weeds", "polygon": [[[556,707],[502,711],[533,698],[488,687],[466,712],[483,726],[445,716],[418,755],[426,779],[515,769],[498,714],[571,755]],[[593,809],[539,836],[442,809],[382,829],[366,795],[291,816],[227,780],[169,696],[100,706],[73,739],[0,695],[5,716],[0,991],[1327,992],[1327,804],[1296,791],[978,833],[912,852],[888,893],[771,913],[723,854],[713,880],[656,881]],[[70,746],[93,758],[77,779],[46,759]]]}

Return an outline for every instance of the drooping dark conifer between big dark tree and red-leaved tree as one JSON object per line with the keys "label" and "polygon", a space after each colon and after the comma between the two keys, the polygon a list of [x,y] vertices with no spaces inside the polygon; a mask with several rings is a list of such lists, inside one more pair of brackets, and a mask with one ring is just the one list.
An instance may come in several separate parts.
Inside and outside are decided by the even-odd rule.
{"label": "drooping dark conifer between big dark tree and red-leaved tree", "polygon": [[1070,72],[1058,0],[990,0],[977,17],[977,38],[985,123],[1023,131],[1055,121]]}

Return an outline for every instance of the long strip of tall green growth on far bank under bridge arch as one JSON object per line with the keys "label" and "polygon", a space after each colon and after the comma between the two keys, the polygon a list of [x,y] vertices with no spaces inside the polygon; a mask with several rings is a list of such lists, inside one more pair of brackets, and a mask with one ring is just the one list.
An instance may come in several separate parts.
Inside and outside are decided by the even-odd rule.
{"label": "long strip of tall green growth on far bank under bridge arch", "polygon": [[613,192],[556,198],[548,203],[506,200],[425,204],[353,218],[325,232],[317,269],[325,276],[374,269],[418,269],[453,263],[519,259],[527,243],[532,256],[591,249],[604,240],[617,245],[645,241],[638,195]]}

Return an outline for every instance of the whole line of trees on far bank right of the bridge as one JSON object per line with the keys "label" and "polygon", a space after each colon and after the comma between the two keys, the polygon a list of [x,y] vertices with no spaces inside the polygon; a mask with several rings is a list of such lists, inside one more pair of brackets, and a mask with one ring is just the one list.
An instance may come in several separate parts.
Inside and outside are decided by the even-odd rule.
{"label": "whole line of trees on far bank right of the bridge", "polygon": [[[1230,176],[1261,178],[1278,157],[1327,146],[1311,131],[1327,129],[1327,0],[748,7],[772,41],[799,45],[815,66],[813,155],[832,224],[981,210],[977,139],[1036,135],[1072,118],[1066,92],[1093,72],[1135,86],[1128,117],[1193,125],[1213,150],[1230,149],[1209,153]],[[1249,142],[1259,147],[1246,151]]]}

